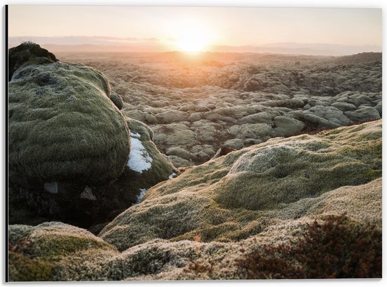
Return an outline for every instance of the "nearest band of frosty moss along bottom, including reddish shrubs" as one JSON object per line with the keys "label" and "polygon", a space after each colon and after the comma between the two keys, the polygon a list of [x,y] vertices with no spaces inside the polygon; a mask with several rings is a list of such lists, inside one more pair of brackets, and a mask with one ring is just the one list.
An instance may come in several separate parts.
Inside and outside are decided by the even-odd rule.
{"label": "nearest band of frosty moss along bottom, including reddish shrubs", "polygon": [[332,190],[312,210],[235,242],[155,239],[123,252],[67,224],[10,226],[9,276],[11,281],[381,276],[381,178]]}

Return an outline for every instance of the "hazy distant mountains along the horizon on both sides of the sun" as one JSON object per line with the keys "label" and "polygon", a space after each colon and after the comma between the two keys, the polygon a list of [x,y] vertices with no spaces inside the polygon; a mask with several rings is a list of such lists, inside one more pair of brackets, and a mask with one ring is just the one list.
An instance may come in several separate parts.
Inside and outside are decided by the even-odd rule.
{"label": "hazy distant mountains along the horizon on both sides of the sun", "polygon": [[[55,52],[163,52],[170,47],[159,39],[116,37],[10,37],[8,47],[15,47],[30,40]],[[320,56],[343,56],[361,52],[381,52],[377,45],[341,45],[329,43],[280,42],[257,46],[208,46],[207,51],[235,53],[303,54]]]}

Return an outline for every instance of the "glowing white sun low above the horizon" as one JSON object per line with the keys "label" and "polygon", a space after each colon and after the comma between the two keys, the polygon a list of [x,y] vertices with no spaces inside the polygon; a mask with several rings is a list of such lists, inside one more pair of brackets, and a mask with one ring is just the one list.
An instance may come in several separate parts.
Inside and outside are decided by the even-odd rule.
{"label": "glowing white sun low above the horizon", "polygon": [[175,35],[175,47],[179,51],[203,51],[211,42],[211,35],[203,25],[195,22],[185,22],[179,25]]}

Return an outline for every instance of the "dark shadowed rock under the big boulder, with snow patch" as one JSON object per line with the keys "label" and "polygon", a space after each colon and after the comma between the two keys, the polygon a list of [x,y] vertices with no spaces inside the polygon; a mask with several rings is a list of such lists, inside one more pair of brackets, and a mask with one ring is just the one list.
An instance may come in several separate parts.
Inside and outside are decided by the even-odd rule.
{"label": "dark shadowed rock under the big boulder, with snow patch", "polygon": [[137,204],[148,188],[175,176],[175,166],[153,144],[151,128],[131,118],[125,121],[131,130],[128,141],[132,149],[118,178],[97,185],[68,181],[42,184],[13,173],[10,223],[34,224],[46,218],[91,227],[98,233],[108,221]]}

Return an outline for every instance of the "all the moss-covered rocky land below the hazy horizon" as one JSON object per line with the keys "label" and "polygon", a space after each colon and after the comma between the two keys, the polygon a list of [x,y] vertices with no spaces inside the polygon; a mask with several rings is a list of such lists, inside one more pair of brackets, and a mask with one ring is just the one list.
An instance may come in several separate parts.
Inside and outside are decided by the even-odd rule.
{"label": "all the moss-covered rocky land below the hazy horizon", "polygon": [[11,281],[381,277],[381,54],[9,53]]}

